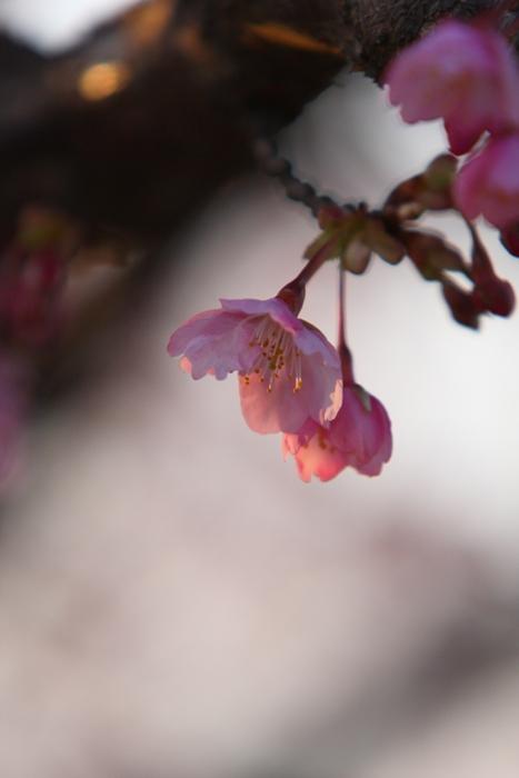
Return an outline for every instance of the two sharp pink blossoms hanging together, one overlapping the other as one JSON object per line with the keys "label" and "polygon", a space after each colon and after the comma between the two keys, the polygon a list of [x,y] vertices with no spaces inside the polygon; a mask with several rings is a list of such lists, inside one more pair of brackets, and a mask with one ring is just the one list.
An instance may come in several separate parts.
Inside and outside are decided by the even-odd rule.
{"label": "two sharp pink blossoms hanging together, one overlapping the other", "polygon": [[247,423],[282,433],[303,481],[348,466],[377,476],[391,455],[386,409],[355,383],[347,352],[298,318],[301,305],[289,287],[269,300],[221,300],[179,327],[168,351],[194,379],[237,372]]}

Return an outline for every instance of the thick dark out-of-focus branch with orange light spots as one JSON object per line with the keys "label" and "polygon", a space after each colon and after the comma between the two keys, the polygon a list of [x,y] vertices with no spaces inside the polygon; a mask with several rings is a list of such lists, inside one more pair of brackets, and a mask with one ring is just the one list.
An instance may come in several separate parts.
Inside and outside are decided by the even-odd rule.
{"label": "thick dark out-of-focus branch with orange light spots", "polygon": [[495,0],[150,0],[46,58],[0,40],[0,235],[27,202],[160,241],[349,63]]}

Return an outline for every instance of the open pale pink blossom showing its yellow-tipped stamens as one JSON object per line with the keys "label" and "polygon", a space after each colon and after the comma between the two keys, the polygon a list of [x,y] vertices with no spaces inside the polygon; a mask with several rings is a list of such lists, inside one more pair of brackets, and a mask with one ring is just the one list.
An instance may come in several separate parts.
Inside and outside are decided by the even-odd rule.
{"label": "open pale pink blossom showing its yellow-tipped stamens", "polygon": [[297,432],[308,419],[333,419],[341,369],[325,336],[280,298],[220,302],[171,336],[168,351],[183,355],[181,367],[194,379],[238,372],[241,409],[256,432]]}

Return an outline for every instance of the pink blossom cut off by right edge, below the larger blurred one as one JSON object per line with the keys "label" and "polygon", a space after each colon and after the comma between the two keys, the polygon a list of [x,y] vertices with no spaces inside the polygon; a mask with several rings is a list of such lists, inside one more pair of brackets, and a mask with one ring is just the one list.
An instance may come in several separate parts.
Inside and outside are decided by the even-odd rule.
{"label": "pink blossom cut off by right edge, below the larger blurred one", "polygon": [[467,219],[499,228],[519,219],[519,133],[492,138],[458,173],[455,201]]}

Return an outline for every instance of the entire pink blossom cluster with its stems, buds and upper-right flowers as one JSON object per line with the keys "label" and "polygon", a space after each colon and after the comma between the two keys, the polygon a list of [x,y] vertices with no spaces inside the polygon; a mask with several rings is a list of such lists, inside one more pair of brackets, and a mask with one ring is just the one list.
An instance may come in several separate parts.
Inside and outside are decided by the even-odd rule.
{"label": "entire pink blossom cluster with its stems, buds and upper-right flowers", "polygon": [[[171,336],[169,352],[182,356],[181,367],[192,378],[238,373],[247,423],[256,432],[281,432],[283,455],[295,457],[305,481],[312,476],[327,481],[346,467],[376,476],[391,456],[387,411],[353,378],[343,331],[346,272],[363,273],[375,255],[390,265],[407,257],[425,280],[441,286],[459,323],[476,329],[482,315],[513,311],[513,289],[496,275],[472,225],[482,215],[519,256],[519,69],[491,24],[490,17],[472,24],[442,22],[386,73],[390,100],[401,106],[405,121],[443,120],[450,153],[399,183],[379,209],[321,205],[321,232],[305,253],[307,268],[277,297],[221,300],[221,309],[194,316]],[[450,209],[470,231],[470,261],[418,223],[427,211]],[[336,259],[337,349],[298,318],[307,281],[323,261]]]}

